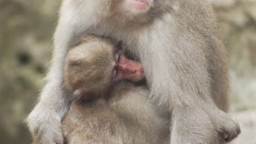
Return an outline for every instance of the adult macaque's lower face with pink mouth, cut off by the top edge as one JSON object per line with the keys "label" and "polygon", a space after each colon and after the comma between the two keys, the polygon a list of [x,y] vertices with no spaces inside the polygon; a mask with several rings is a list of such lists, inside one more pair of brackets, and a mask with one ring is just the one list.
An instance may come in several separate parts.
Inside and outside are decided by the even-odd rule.
{"label": "adult macaque's lower face with pink mouth, cut off by the top edge", "polygon": [[[80,0],[79,7],[84,13],[92,12],[91,15],[98,15],[109,19],[109,17],[124,20],[140,19],[147,15],[147,12],[156,0]],[[165,1],[165,0],[162,0]],[[90,13],[89,12],[89,13]]]}

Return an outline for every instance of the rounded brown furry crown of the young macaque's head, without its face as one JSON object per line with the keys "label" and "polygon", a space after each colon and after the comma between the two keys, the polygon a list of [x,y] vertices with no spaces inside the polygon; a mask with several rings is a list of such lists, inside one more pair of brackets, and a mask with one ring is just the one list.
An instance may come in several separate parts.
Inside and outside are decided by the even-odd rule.
{"label": "rounded brown furry crown of the young macaque's head, without its face", "polygon": [[83,37],[82,43],[67,53],[64,83],[72,99],[104,95],[111,87],[114,44],[95,35]]}

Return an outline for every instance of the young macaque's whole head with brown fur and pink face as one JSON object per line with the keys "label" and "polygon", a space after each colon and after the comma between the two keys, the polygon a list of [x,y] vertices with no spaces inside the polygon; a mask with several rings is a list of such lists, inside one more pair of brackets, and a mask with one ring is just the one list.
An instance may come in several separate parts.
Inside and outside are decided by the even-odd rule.
{"label": "young macaque's whole head with brown fur and pink face", "polygon": [[142,65],[127,59],[109,39],[85,37],[66,56],[64,83],[74,98],[102,97],[121,80],[143,77]]}

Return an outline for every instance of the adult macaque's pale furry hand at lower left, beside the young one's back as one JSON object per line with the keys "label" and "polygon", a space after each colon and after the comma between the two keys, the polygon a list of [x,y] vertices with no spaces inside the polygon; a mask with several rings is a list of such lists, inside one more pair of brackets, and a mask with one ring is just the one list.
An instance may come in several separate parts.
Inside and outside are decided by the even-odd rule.
{"label": "adult macaque's pale furry hand at lower left, beside the young one's back", "polygon": [[26,122],[33,138],[33,144],[63,144],[60,118],[53,115],[36,115],[33,111]]}

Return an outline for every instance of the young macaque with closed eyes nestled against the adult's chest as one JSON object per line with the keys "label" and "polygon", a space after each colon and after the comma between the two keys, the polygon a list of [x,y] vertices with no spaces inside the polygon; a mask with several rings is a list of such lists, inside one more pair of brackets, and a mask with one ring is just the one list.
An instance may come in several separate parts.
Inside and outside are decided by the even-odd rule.
{"label": "young macaque with closed eyes nestled against the adult's chest", "polygon": [[147,87],[131,83],[143,77],[142,66],[114,50],[110,40],[83,38],[68,51],[64,67],[64,86],[84,100],[73,102],[62,121],[66,142],[170,143],[170,115],[150,101]]}

